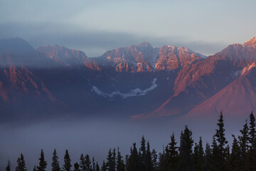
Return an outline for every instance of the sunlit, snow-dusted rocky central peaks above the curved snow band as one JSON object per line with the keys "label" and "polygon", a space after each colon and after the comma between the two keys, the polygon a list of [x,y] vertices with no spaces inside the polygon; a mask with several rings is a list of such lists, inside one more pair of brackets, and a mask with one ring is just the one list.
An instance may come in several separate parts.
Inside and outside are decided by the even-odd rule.
{"label": "sunlit, snow-dusted rocky central peaks above the curved snow band", "polygon": [[114,67],[114,71],[151,72],[180,69],[205,57],[186,47],[163,46],[153,48],[149,43],[144,42],[139,45],[107,51],[96,58],[96,61],[103,66]]}

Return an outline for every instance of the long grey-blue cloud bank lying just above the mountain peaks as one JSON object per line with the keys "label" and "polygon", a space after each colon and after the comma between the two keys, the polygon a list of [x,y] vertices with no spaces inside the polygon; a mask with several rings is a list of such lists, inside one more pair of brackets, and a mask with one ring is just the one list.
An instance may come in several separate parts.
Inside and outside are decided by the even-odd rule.
{"label": "long grey-blue cloud bank lying just above the mountain peaks", "polygon": [[116,31],[95,31],[75,25],[55,23],[0,23],[0,38],[21,37],[35,48],[61,45],[85,51],[87,56],[100,56],[107,50],[148,41],[154,47],[186,46],[205,55],[216,53],[228,44],[188,41],[185,36],[144,36]]}

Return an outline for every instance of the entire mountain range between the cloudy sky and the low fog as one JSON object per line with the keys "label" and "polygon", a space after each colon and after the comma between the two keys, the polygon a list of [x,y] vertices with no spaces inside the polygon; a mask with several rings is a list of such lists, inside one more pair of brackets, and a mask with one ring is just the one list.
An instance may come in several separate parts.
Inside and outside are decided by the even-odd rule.
{"label": "entire mountain range between the cloudy sky and the low fog", "polygon": [[90,58],[63,46],[0,40],[1,120],[59,115],[241,117],[256,108],[256,37],[213,56],[150,43]]}

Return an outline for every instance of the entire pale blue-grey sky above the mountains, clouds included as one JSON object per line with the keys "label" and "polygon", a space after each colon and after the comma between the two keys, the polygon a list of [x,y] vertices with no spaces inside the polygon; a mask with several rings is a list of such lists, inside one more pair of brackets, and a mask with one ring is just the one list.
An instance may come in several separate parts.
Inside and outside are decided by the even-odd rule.
{"label": "entire pale blue-grey sky above the mountains, clouds included", "polygon": [[256,1],[0,0],[0,38],[61,45],[100,56],[148,41],[210,55],[256,36]]}

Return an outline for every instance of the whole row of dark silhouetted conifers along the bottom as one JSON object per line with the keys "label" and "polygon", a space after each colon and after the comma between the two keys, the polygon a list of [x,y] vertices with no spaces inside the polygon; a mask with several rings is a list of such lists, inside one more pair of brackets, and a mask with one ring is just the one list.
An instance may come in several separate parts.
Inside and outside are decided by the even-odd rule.
{"label": "whole row of dark silhouetted conifers along the bottom", "polygon": [[[53,151],[51,162],[52,171],[236,171],[256,170],[256,132],[255,116],[250,113],[250,121],[243,125],[238,138],[233,136],[233,143],[230,147],[225,138],[223,113],[220,112],[217,129],[213,135],[211,144],[206,143],[203,148],[202,138],[194,142],[192,131],[185,126],[181,131],[179,146],[174,133],[171,141],[163,152],[157,153],[151,150],[149,141],[144,136],[137,148],[136,143],[130,148],[130,154],[122,156],[119,147],[110,149],[106,160],[99,165],[95,158],[89,155],[80,155],[80,161],[71,164],[68,150],[65,150],[64,165],[60,167],[56,150]],[[38,165],[33,171],[46,171],[48,163],[41,150]],[[11,164],[8,161],[6,171],[11,171]],[[23,154],[18,157],[15,171],[27,171]]]}

